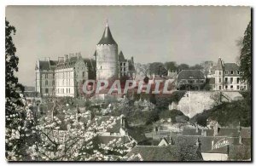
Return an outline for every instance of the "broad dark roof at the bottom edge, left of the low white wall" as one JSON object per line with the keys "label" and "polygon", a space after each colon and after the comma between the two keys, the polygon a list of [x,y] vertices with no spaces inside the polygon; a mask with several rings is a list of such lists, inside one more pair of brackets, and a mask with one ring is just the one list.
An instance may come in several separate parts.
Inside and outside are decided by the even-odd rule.
{"label": "broad dark roof at the bottom edge, left of the low white wall", "polygon": [[125,157],[127,161],[177,161],[177,146],[135,146]]}

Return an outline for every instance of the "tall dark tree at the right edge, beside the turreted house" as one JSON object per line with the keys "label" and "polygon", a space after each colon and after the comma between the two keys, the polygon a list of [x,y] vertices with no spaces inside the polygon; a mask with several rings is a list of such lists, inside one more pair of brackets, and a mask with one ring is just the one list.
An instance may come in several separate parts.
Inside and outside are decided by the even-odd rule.
{"label": "tall dark tree at the right edge, beside the turreted house", "polygon": [[247,81],[248,89],[251,88],[252,84],[252,27],[251,21],[247,26],[247,30],[244,32],[242,40],[242,48],[240,55],[240,71],[241,80]]}

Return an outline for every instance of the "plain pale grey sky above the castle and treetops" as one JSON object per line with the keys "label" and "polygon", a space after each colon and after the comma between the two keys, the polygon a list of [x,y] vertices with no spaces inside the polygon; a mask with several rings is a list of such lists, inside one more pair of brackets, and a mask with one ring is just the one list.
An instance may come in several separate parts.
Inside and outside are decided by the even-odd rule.
{"label": "plain pale grey sky above the castle and treetops", "polygon": [[249,7],[8,6],[16,28],[19,82],[35,85],[36,60],[80,52],[92,57],[106,20],[125,58],[135,62],[236,62],[237,41],[251,20]]}

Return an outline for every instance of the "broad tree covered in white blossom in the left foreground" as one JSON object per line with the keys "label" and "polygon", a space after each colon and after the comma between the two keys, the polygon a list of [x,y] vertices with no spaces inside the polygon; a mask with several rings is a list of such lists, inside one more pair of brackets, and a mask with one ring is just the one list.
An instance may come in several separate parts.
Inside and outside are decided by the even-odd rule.
{"label": "broad tree covered in white blossom in the left foreground", "polygon": [[115,121],[101,123],[93,129],[86,129],[90,121],[86,123],[80,120],[85,118],[90,119],[90,115],[81,112],[74,115],[71,110],[62,110],[56,115],[41,117],[36,129],[40,140],[27,150],[30,159],[37,161],[101,161],[112,160],[113,158],[109,155],[123,157],[131,151],[133,140],[124,143],[119,138],[111,146],[99,142],[98,135],[101,135],[108,127],[111,128]]}

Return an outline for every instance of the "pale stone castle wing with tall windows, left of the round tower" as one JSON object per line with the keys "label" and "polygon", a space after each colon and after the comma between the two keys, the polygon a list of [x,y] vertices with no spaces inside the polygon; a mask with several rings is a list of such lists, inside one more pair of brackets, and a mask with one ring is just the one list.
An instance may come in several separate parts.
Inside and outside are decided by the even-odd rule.
{"label": "pale stone castle wing with tall windows, left of the round tower", "polygon": [[38,60],[36,91],[41,96],[78,97],[79,89],[88,78],[88,67],[81,54],[66,54],[58,61]]}

